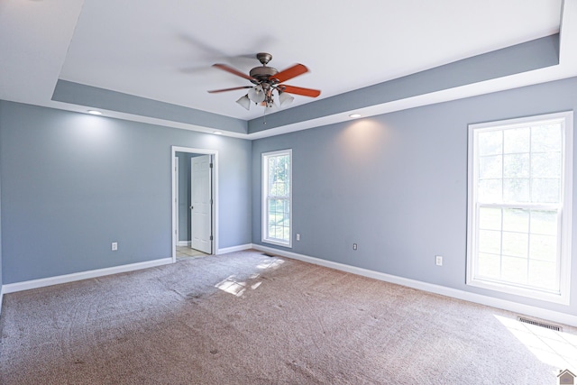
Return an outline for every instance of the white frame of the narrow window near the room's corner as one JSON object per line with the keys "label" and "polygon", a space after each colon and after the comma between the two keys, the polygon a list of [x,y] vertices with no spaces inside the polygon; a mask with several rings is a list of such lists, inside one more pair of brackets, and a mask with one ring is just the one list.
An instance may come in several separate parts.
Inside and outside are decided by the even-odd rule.
{"label": "white frame of the narrow window near the room's corner", "polygon": [[[269,158],[275,156],[289,155],[289,242],[283,242],[276,238],[269,236]],[[262,205],[261,205],[261,242],[275,244],[277,246],[284,246],[292,248],[292,149],[263,152],[261,155],[262,165]]]}

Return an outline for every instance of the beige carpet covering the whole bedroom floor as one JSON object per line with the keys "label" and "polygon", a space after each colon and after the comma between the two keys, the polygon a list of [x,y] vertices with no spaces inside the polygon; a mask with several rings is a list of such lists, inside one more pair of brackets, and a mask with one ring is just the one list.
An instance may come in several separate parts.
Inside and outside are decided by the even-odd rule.
{"label": "beige carpet covering the whole bedroom floor", "polygon": [[235,252],[5,295],[0,383],[555,384],[577,367],[575,329],[514,316]]}

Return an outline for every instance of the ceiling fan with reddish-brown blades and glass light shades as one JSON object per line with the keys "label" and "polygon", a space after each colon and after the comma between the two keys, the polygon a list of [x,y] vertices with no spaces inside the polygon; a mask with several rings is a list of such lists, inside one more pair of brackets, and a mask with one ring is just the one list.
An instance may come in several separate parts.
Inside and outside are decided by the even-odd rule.
{"label": "ceiling fan with reddish-brown blades and glass light shades", "polygon": [[286,84],[281,84],[291,78],[296,78],[299,75],[308,72],[307,67],[302,64],[295,64],[288,69],[284,69],[279,72],[277,69],[272,67],[267,67],[267,64],[272,60],[272,55],[270,53],[261,52],[256,54],[256,59],[261,61],[262,67],[255,67],[251,69],[249,75],[243,74],[243,72],[234,69],[226,64],[213,64],[213,67],[217,69],[222,69],[226,72],[230,72],[241,78],[250,80],[254,86],[243,86],[243,87],[233,87],[224,89],[215,89],[208,91],[211,94],[217,92],[234,91],[236,89],[249,88],[248,93],[245,96],[239,98],[236,103],[242,105],[247,110],[250,109],[251,103],[257,105],[263,105],[265,107],[272,108],[274,106],[274,95],[273,91],[276,91],[279,96],[279,105],[289,105],[294,100],[293,96],[289,94],[302,95],[316,97],[321,95],[321,91],[318,89],[294,87]]}

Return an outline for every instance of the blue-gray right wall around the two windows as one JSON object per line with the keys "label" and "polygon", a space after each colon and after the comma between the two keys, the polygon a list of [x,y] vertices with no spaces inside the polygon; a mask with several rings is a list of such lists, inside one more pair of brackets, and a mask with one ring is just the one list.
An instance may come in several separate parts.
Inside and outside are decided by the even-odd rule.
{"label": "blue-gray right wall around the two windows", "polygon": [[467,125],[575,108],[571,78],[254,141],[252,243],[272,247],[261,243],[261,153],[291,148],[294,234],[284,250],[576,315],[575,284],[572,307],[465,285]]}

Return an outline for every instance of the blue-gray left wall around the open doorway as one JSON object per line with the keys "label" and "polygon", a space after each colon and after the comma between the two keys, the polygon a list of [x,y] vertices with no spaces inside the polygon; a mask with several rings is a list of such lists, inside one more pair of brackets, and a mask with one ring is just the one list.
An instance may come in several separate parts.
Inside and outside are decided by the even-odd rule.
{"label": "blue-gray left wall around the open doorway", "polygon": [[4,284],[169,257],[171,145],[219,151],[219,246],[250,243],[251,142],[0,101]]}

